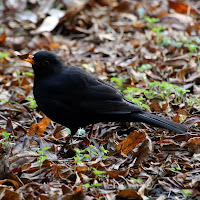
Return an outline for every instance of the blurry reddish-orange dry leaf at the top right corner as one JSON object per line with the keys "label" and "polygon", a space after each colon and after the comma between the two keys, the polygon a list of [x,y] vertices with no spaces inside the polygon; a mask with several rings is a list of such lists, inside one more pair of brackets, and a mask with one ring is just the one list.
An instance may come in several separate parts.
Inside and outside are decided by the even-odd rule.
{"label": "blurry reddish-orange dry leaf at the top right corner", "polygon": [[188,6],[185,3],[182,2],[175,2],[175,1],[168,1],[169,4],[169,8],[174,9],[176,12],[178,13],[182,13],[182,14],[187,14],[188,12],[192,13],[192,14],[198,14],[199,12],[192,8],[191,6]]}

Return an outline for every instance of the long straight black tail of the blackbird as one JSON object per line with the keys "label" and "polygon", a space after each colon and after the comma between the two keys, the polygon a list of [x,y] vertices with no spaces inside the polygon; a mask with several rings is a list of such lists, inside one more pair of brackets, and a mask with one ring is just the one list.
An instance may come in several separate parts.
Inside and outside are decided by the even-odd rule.
{"label": "long straight black tail of the blackbird", "polygon": [[133,121],[141,121],[147,124],[158,126],[161,128],[166,128],[170,131],[176,133],[186,133],[188,131],[187,127],[183,124],[179,124],[163,117],[148,113],[148,112],[138,112],[133,114]]}

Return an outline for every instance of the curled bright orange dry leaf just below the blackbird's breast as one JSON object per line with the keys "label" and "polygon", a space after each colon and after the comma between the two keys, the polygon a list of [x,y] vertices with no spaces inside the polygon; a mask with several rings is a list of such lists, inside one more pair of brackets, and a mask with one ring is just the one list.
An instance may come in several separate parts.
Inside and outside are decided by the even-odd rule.
{"label": "curled bright orange dry leaf just below the blackbird's breast", "polygon": [[45,117],[41,120],[40,123],[32,124],[27,135],[32,136],[34,133],[37,133],[36,136],[41,136],[46,130],[47,125],[49,124],[50,121],[51,119],[49,119],[48,117]]}

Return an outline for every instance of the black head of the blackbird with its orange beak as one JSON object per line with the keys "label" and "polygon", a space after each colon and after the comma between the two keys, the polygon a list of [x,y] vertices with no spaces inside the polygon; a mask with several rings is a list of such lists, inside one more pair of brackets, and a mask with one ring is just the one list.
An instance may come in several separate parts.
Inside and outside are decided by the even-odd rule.
{"label": "black head of the blackbird with its orange beak", "polygon": [[38,51],[29,55],[24,61],[32,64],[35,76],[46,76],[56,73],[63,67],[63,62],[50,51]]}

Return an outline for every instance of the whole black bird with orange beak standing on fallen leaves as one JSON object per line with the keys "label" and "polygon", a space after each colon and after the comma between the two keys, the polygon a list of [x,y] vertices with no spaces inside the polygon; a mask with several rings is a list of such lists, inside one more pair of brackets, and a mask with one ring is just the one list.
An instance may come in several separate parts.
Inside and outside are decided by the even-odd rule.
{"label": "whole black bird with orange beak standing on fallen leaves", "polygon": [[145,122],[177,133],[187,132],[184,125],[145,111],[85,70],[65,65],[52,52],[39,51],[23,60],[34,70],[33,94],[39,109],[70,128],[72,134],[98,122]]}

